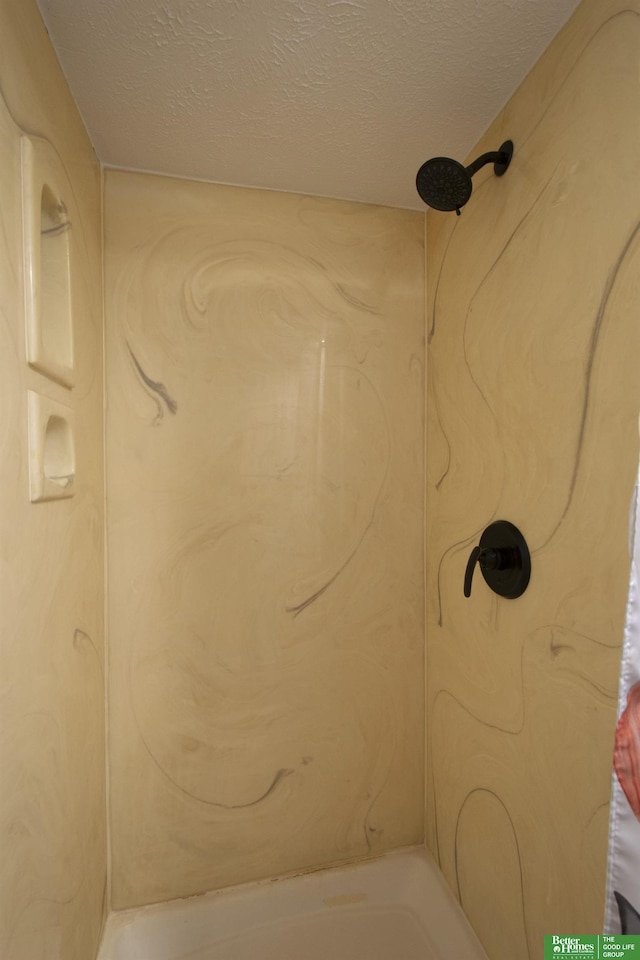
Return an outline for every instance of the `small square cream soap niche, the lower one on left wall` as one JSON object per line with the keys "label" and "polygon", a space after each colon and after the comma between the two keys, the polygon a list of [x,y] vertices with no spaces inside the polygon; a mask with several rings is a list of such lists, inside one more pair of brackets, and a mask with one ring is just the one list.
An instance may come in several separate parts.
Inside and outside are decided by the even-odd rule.
{"label": "small square cream soap niche, the lower one on left wall", "polygon": [[64,500],[75,493],[74,416],[70,407],[27,390],[29,499]]}

